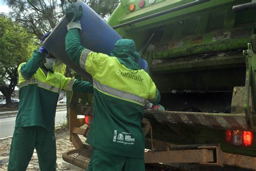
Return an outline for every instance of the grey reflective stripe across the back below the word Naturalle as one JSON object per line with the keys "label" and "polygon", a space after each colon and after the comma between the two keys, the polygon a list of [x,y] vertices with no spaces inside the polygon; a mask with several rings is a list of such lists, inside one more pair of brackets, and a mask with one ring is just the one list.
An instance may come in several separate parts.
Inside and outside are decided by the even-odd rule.
{"label": "grey reflective stripe across the back below the word Naturalle", "polygon": [[93,86],[100,92],[113,96],[118,99],[134,102],[139,105],[146,105],[146,99],[139,97],[138,95],[127,93],[124,91],[117,90],[115,88],[111,88],[109,86],[105,86],[100,84],[97,80],[93,79]]}

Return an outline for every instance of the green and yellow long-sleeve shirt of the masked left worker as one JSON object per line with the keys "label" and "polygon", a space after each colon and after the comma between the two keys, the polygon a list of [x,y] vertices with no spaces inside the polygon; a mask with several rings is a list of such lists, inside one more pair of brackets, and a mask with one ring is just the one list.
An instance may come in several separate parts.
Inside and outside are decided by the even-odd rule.
{"label": "green and yellow long-sleeve shirt of the masked left worker", "polygon": [[44,57],[44,54],[34,52],[27,63],[18,67],[19,109],[16,128],[41,126],[54,131],[60,91],[93,92],[93,86],[86,81],[66,78],[53,70],[48,70],[45,76],[39,67]]}

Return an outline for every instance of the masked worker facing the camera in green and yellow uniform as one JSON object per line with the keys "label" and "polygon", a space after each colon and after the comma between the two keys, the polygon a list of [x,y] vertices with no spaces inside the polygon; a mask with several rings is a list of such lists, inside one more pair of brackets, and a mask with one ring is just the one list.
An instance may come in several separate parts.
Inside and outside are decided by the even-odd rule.
{"label": "masked worker facing the camera in green and yellow uniform", "polygon": [[40,169],[56,170],[54,130],[59,93],[61,90],[93,92],[90,83],[53,71],[54,60],[41,46],[27,63],[18,66],[20,101],[8,170],[26,170],[35,148]]}

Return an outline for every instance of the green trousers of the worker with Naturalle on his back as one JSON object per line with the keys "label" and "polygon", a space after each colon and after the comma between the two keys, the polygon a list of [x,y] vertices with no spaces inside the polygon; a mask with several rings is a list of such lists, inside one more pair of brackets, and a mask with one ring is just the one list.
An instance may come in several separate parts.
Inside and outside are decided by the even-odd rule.
{"label": "green trousers of the worker with Naturalle on his back", "polygon": [[86,171],[145,171],[144,159],[113,155],[94,148]]}

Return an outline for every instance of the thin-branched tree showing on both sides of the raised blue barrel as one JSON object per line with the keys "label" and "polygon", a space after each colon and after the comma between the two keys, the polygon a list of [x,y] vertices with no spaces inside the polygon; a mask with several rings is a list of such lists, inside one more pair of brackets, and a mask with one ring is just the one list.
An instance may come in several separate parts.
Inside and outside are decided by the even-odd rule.
{"label": "thin-branched tree showing on both sides of the raised blue barrel", "polygon": [[[65,5],[74,0],[5,1],[13,10],[10,16],[41,39],[44,33],[52,30],[63,17]],[[117,7],[119,0],[84,0],[83,2],[105,18]]]}

